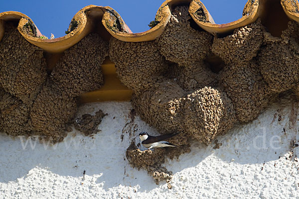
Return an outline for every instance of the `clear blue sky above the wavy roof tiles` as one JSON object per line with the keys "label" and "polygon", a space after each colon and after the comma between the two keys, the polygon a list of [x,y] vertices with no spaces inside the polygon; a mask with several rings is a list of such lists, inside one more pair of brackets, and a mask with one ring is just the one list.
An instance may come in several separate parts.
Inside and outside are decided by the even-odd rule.
{"label": "clear blue sky above the wavy roof tiles", "polygon": [[[86,5],[110,6],[133,32],[149,29],[149,21],[164,0],[0,0],[0,12],[19,11],[29,16],[42,34],[50,38],[65,35],[65,30],[78,10]],[[247,0],[201,0],[216,23],[239,19]],[[137,17],[138,16],[138,17]]]}

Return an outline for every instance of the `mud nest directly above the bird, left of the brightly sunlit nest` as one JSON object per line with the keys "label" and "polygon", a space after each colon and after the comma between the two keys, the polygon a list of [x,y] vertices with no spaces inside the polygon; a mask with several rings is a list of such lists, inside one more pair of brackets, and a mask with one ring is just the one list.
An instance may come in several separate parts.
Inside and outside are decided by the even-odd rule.
{"label": "mud nest directly above the bird, left of the brightly sunlit nest", "polygon": [[164,81],[156,88],[132,96],[136,112],[160,133],[180,132],[183,130],[183,110],[181,98],[185,91],[173,81]]}

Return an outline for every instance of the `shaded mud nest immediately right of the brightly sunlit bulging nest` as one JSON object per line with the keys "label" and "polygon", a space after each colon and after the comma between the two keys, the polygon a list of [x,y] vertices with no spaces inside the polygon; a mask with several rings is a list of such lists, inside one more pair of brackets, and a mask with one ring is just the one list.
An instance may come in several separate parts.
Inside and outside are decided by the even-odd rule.
{"label": "shaded mud nest immediately right of the brightly sunlit bulging nest", "polygon": [[237,119],[248,122],[255,119],[268,105],[272,92],[252,61],[245,65],[231,65],[224,68],[221,84],[232,100]]}

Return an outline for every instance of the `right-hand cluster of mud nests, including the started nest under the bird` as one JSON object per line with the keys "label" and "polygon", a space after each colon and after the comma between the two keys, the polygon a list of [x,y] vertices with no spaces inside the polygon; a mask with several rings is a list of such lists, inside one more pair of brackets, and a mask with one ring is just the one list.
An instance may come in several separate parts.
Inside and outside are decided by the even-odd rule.
{"label": "right-hand cluster of mud nests, including the started nest under the bird", "polygon": [[109,44],[117,75],[134,91],[136,112],[162,134],[180,132],[169,140],[176,149],[140,151],[134,143],[127,149],[129,162],[157,180],[171,177],[158,170],[167,151],[180,151],[189,139],[209,144],[237,122],[255,119],[279,93],[299,95],[297,22],[281,37],[260,20],[218,37],[193,29],[191,20],[188,7],[178,6],[156,40]]}

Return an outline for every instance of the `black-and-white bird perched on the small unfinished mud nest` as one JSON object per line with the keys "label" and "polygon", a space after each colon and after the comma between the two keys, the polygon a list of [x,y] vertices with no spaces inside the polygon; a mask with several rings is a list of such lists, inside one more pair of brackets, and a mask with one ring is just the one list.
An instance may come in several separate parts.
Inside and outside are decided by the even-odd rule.
{"label": "black-and-white bird perched on the small unfinished mud nest", "polygon": [[141,143],[144,147],[151,149],[151,148],[159,148],[159,147],[176,147],[174,144],[171,144],[167,141],[164,141],[168,138],[177,135],[178,133],[171,134],[171,135],[159,135],[159,136],[151,136],[147,132],[139,133],[139,138]]}

